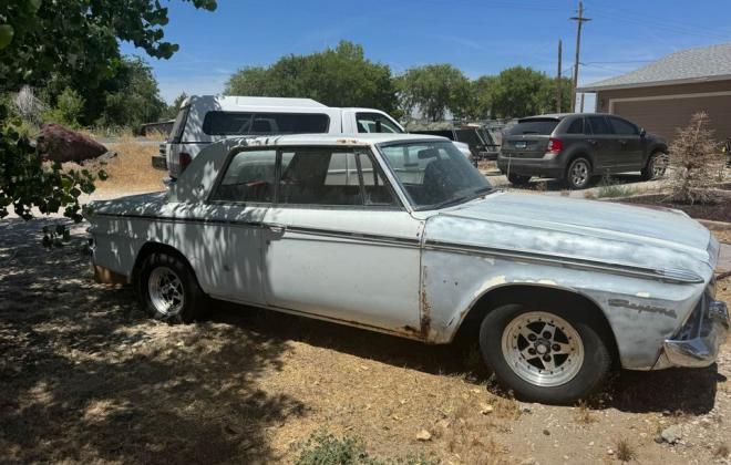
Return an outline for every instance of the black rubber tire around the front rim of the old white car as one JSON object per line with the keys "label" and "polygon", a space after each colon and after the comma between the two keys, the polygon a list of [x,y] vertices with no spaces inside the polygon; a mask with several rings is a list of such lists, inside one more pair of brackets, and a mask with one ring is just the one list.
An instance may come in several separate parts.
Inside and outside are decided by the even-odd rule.
{"label": "black rubber tire around the front rim of the old white car", "polygon": [[[573,327],[572,330],[579,335],[579,340],[576,343],[581,345],[584,355],[583,362],[574,365],[575,370],[578,371],[575,371],[573,378],[567,379],[559,385],[539,385],[518,375],[519,368],[515,370],[511,368],[503,350],[503,335],[508,324],[516,321],[516,318],[525,318],[535,310],[524,304],[505,304],[492,310],[485,316],[480,327],[480,351],[483,360],[494,371],[497,381],[505,389],[513,391],[518,399],[547,404],[572,404],[580,399],[586,399],[603,385],[609,373],[611,355],[608,349],[608,341],[596,329],[598,324],[591,321],[590,318],[587,318],[588,312],[581,311],[586,309],[570,311],[559,306],[546,304],[539,307],[539,309],[542,313],[550,313],[563,319],[564,322],[568,322]],[[513,326],[513,328],[515,327]],[[509,341],[512,338],[506,337],[506,340]],[[565,359],[565,361],[570,360],[570,356]],[[558,372],[557,369],[554,370]],[[570,366],[569,370],[572,370]]]}

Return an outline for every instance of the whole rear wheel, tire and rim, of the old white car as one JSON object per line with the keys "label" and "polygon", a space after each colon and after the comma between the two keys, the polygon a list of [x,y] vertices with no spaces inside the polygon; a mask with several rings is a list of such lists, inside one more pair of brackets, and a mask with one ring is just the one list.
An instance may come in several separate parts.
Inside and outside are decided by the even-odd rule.
{"label": "whole rear wheel, tire and rim, of the old white car", "polygon": [[205,294],[191,267],[175,255],[147,256],[136,288],[142,308],[157,320],[189,323],[200,316]]}

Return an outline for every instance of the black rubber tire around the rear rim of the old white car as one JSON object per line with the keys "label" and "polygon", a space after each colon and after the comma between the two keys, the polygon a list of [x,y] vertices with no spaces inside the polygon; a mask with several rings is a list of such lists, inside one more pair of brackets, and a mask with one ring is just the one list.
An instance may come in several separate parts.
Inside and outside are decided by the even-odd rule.
{"label": "black rubber tire around the rear rim of the old white car", "polygon": [[[154,302],[151,287],[155,285],[151,285],[151,276],[155,270],[158,270],[157,273],[166,273],[166,270],[169,270],[178,278],[179,287],[176,286],[176,290],[183,296],[178,308],[164,312],[161,311],[161,306]],[[143,310],[156,320],[191,323],[199,319],[203,313],[205,293],[188,264],[176,255],[154,252],[145,257],[136,276],[135,289]]]}

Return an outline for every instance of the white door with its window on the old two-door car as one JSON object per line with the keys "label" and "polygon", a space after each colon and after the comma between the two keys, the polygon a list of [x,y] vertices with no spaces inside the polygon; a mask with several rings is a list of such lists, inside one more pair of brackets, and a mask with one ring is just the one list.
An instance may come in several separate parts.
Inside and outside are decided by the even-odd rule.
{"label": "white door with its window on the old two-door car", "polygon": [[394,332],[419,328],[421,221],[363,148],[280,151],[265,217],[271,307]]}

